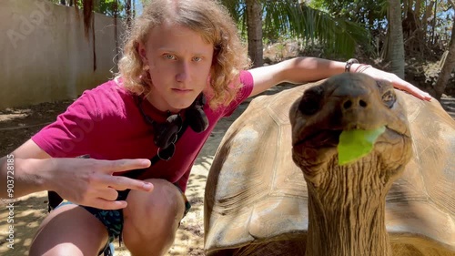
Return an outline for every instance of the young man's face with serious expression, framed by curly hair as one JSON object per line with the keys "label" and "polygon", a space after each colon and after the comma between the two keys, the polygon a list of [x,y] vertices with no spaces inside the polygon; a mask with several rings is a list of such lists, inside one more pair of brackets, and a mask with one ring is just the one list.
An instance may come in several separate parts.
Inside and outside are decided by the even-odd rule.
{"label": "young man's face with serious expression, framed by curly hair", "polygon": [[213,45],[193,30],[165,23],[154,28],[139,54],[150,67],[147,99],[157,109],[177,112],[189,107],[207,87]]}

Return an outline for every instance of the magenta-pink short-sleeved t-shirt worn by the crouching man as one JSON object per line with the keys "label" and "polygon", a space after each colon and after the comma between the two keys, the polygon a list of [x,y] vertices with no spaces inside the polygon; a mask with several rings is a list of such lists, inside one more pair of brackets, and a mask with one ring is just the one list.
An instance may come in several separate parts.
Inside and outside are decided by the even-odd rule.
{"label": "magenta-pink short-sleeved t-shirt worn by the crouching man", "polygon": [[[140,179],[167,179],[185,191],[191,167],[197,154],[219,118],[227,117],[238,108],[253,89],[253,77],[248,71],[240,74],[244,85],[237,98],[227,107],[212,110],[204,107],[208,128],[201,133],[187,128],[177,141],[176,152],[168,161],[159,160]],[[142,108],[147,116],[164,122],[166,113],[144,101]],[[148,125],[137,108],[135,97],[114,80],[86,90],[56,122],[46,126],[32,138],[53,158],[74,158],[89,154],[93,159],[151,159],[157,155],[153,142],[153,128]]]}

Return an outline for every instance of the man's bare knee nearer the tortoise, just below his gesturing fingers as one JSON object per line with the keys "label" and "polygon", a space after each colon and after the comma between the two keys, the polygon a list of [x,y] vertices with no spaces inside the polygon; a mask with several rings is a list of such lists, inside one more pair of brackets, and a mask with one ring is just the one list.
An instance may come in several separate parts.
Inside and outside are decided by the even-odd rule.
{"label": "man's bare knee nearer the tortoise, just below his gesturing fingers", "polygon": [[161,255],[174,242],[185,211],[179,189],[163,179],[149,179],[152,193],[131,191],[124,210],[123,239],[134,255]]}

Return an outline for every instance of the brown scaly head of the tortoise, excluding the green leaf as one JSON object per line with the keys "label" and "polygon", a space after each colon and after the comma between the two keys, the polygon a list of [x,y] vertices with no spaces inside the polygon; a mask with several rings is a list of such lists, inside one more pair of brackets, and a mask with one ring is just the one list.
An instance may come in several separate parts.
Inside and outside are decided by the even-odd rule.
{"label": "brown scaly head of the tortoise, excluding the green leaf", "polygon": [[[324,182],[321,175],[328,177],[338,169],[363,166],[379,172],[374,176],[389,180],[397,177],[410,160],[410,128],[404,103],[387,81],[360,73],[330,77],[308,88],[290,108],[289,118],[292,158],[316,186]],[[367,156],[339,166],[337,146],[343,130],[380,127],[385,127],[385,132]]]}

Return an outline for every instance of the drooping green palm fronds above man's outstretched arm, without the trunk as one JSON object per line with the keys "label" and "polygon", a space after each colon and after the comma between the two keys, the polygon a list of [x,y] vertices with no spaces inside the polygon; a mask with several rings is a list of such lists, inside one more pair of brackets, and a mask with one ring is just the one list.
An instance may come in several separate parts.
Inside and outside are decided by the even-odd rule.
{"label": "drooping green palm fronds above man's outstretched arm, without the trunk", "polygon": [[[267,41],[298,37],[307,44],[321,44],[325,46],[326,54],[338,56],[352,56],[355,46],[370,45],[369,31],[365,26],[345,17],[329,15],[298,0],[258,1],[263,6],[263,36]],[[238,21],[238,27],[245,36],[246,1],[221,2]]]}

